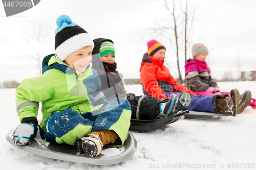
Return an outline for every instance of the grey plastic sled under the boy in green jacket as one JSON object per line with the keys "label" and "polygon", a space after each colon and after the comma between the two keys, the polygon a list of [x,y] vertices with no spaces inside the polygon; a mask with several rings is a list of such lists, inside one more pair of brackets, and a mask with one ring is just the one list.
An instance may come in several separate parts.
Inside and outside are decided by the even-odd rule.
{"label": "grey plastic sled under the boy in green jacket", "polygon": [[14,147],[39,156],[63,161],[89,163],[95,165],[111,165],[126,160],[132,156],[137,149],[137,141],[131,132],[128,132],[127,140],[124,142],[122,147],[112,148],[104,146],[103,150],[97,157],[88,157],[84,156],[80,152],[77,152],[74,145],[54,145],[49,142],[43,144],[45,141],[41,139],[39,130],[34,140],[31,140],[29,144],[20,147],[12,141],[12,134],[14,130],[15,128],[12,128],[6,135],[6,140],[10,144],[14,145]]}

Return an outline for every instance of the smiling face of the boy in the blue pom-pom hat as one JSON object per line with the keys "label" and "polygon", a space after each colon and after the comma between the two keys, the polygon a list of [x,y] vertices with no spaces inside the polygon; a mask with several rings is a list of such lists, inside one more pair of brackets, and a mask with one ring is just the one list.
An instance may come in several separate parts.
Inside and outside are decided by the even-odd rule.
{"label": "smiling face of the boy in the blue pom-pom hat", "polygon": [[92,62],[92,46],[78,49],[66,57],[64,61],[76,70],[84,72],[86,67]]}

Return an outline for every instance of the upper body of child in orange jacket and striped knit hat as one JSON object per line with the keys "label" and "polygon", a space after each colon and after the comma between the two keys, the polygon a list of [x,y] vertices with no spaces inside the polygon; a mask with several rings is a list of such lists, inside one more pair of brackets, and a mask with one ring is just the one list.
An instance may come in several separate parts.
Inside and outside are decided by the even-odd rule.
{"label": "upper body of child in orange jacket and striped knit hat", "polygon": [[[140,80],[143,84],[143,93],[150,94],[158,99],[168,98],[168,92],[187,91],[195,94],[185,86],[179,84],[169,69],[164,66],[165,47],[156,40],[148,41],[148,51],[144,54],[140,66]],[[153,57],[154,56],[154,57]]]}

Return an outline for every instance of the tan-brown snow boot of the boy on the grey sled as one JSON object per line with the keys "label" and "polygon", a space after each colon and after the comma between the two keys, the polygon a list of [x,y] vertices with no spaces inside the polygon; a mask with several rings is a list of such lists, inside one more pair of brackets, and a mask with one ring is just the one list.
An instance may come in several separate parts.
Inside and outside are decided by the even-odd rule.
{"label": "tan-brown snow boot of the boy on the grey sled", "polygon": [[113,130],[97,130],[76,140],[76,149],[79,152],[84,152],[90,157],[98,156],[102,147],[108,143],[114,143],[118,135]]}

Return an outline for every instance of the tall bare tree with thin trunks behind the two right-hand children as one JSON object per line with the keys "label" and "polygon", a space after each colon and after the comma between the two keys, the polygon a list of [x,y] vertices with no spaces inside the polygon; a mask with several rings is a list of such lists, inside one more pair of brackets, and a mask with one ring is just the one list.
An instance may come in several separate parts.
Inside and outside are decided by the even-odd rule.
{"label": "tall bare tree with thin trunks behind the two right-hand children", "polygon": [[[158,0],[159,4],[168,12],[164,19],[158,19],[151,28],[144,29],[144,34],[153,35],[155,38],[160,38],[163,43],[167,44],[170,49],[168,57],[165,58],[165,63],[169,69],[172,69],[174,74],[178,77],[177,81],[183,83],[181,75],[180,54],[184,50],[185,61],[187,59],[187,49],[190,42],[190,33],[192,23],[195,18],[195,5],[190,9],[188,2],[181,3],[181,0]],[[185,6],[185,7],[183,7]],[[184,15],[182,15],[184,14]],[[183,17],[184,16],[184,17]],[[184,48],[183,48],[184,45]],[[176,59],[175,59],[176,58]],[[176,60],[176,65],[172,62]],[[185,63],[184,61],[184,63]],[[176,70],[175,70],[176,69]],[[176,72],[178,74],[176,74]]]}

